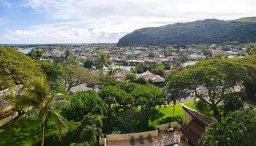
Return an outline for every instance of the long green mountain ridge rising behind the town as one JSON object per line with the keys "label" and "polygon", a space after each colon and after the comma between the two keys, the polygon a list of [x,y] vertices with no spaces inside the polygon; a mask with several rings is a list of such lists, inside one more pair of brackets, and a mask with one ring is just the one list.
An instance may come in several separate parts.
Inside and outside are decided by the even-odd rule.
{"label": "long green mountain ridge rising behind the town", "polygon": [[205,19],[140,28],[119,39],[117,46],[256,42],[256,17]]}

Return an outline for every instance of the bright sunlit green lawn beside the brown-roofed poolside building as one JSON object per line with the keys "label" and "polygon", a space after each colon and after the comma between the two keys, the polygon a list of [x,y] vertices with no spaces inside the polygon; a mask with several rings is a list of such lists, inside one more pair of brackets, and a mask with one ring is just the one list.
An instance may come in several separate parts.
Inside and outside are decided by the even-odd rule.
{"label": "bright sunlit green lawn beside the brown-roofed poolside building", "polygon": [[[189,102],[185,102],[185,105],[187,105],[188,107],[191,107],[192,109],[195,109],[195,104],[194,101],[189,101]],[[159,109],[159,107],[156,107],[157,109]],[[162,118],[166,118],[166,117],[172,117],[173,116],[173,105],[168,105],[166,107],[161,107],[159,109],[159,111],[164,114],[164,116]],[[183,115],[183,109],[181,104],[176,104],[175,106],[175,112],[174,115]],[[154,120],[153,122],[149,122],[149,126],[155,126],[159,123],[159,120],[161,120],[162,118],[159,118],[157,120]]]}

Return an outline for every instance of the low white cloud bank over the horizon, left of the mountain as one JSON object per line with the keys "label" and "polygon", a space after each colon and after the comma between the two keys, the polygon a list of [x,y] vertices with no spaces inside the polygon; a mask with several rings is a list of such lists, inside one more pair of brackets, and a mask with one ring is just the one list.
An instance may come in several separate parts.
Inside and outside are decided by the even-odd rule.
{"label": "low white cloud bank over the horizon, left of the mountain", "polygon": [[31,26],[26,30],[7,31],[4,39],[17,43],[116,42],[124,34],[101,26],[79,27],[74,22]]}

